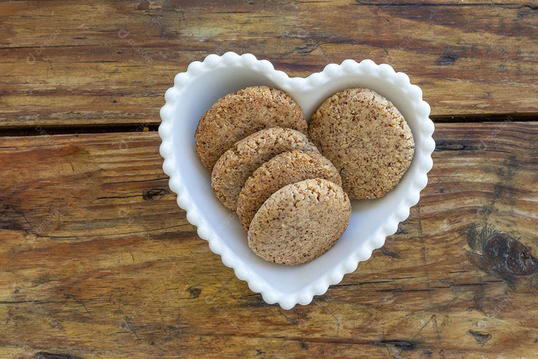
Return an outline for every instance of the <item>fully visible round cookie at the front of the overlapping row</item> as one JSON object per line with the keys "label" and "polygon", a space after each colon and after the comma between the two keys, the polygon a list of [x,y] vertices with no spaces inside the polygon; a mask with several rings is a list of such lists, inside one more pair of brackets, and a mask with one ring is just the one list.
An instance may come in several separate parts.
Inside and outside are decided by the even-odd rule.
{"label": "fully visible round cookie at the front of the overlapping row", "polygon": [[282,187],[260,207],[249,229],[249,247],[266,261],[312,261],[348,227],[351,205],[342,187],[320,178]]}

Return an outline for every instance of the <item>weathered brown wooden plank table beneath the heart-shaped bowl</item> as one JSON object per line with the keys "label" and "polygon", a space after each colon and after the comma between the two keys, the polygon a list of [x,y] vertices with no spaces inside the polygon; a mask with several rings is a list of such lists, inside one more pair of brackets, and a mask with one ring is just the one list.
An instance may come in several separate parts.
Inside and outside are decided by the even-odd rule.
{"label": "weathered brown wooden plank table beneath the heart-shaped bowl", "polygon": [[[196,235],[158,111],[209,53],[409,74],[434,167],[385,246],[267,305]],[[500,0],[0,3],[0,357],[538,358],[538,11]]]}

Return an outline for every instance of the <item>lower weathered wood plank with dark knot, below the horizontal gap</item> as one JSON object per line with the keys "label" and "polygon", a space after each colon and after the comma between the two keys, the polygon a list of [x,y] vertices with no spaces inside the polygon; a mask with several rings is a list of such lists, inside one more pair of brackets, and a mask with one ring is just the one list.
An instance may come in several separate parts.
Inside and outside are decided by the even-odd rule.
{"label": "lower weathered wood plank with dark knot, below the horizontal gap", "polygon": [[156,133],[1,138],[0,357],[535,358],[537,136],[438,124],[399,232],[291,311],[196,236]]}

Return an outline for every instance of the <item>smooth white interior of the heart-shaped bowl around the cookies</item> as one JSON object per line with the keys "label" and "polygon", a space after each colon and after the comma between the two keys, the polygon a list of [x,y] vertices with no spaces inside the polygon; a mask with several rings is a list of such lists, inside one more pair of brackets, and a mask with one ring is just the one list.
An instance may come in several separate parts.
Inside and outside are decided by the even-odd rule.
{"label": "smooth white interior of the heart-shaped bowl around the cookies", "polygon": [[[410,179],[418,170],[413,161],[400,184],[383,198],[353,200],[348,229],[334,247],[314,261],[285,266],[266,262],[254,255],[247,245],[246,234],[235,213],[231,213],[215,197],[210,184],[211,175],[202,166],[194,150],[194,132],[198,121],[218,98],[247,86],[267,85],[287,91],[299,102],[309,119],[318,105],[337,91],[351,87],[366,87],[392,101],[406,118],[414,135],[419,126],[415,105],[406,101],[403,91],[389,82],[390,80],[370,74],[357,74],[326,79],[315,89],[304,90],[300,86],[290,85],[291,82],[300,80],[304,79],[291,79],[279,84],[254,69],[239,66],[215,68],[197,76],[195,81],[182,88],[174,110],[175,165],[181,180],[188,188],[190,199],[197,207],[197,212],[203,214],[209,226],[220,234],[222,241],[235,253],[238,260],[246,263],[251,274],[281,293],[300,291],[363,245],[399,207],[404,194],[412,185]],[[416,148],[421,146],[420,142],[420,137],[415,136]]]}

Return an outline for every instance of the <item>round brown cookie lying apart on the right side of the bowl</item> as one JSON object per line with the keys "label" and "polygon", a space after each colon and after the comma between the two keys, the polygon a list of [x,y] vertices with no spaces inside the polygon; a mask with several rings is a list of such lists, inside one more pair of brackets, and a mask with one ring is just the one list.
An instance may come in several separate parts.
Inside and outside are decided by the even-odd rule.
{"label": "round brown cookie lying apart on the right side of the bowl", "polygon": [[409,168],[414,140],[397,108],[364,88],[329,97],[312,115],[312,142],[332,161],[350,198],[379,198]]}

